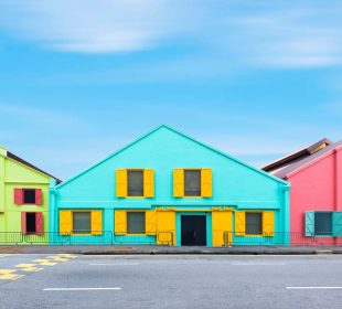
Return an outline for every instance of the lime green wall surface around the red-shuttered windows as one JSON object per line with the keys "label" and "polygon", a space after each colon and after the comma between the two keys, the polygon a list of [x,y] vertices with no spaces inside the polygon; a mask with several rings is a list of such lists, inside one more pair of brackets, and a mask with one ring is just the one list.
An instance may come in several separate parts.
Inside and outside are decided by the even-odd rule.
{"label": "lime green wall surface around the red-shuttered windows", "polygon": [[[21,212],[42,212],[43,232],[49,232],[50,177],[6,156],[0,147],[0,232],[21,232]],[[42,189],[42,205],[15,205],[14,189]]]}

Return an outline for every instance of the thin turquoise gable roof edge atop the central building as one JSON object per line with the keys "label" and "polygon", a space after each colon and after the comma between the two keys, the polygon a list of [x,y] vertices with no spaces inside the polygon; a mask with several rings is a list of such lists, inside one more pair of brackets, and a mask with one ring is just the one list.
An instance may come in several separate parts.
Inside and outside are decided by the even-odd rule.
{"label": "thin turquoise gable roof edge atop the central building", "polygon": [[77,173],[76,175],[70,178],[68,180],[63,181],[62,183],[60,183],[60,184],[57,185],[57,188],[61,188],[61,187],[65,185],[66,183],[68,183],[68,182],[71,182],[71,181],[75,180],[76,178],[81,177],[82,174],[86,173],[87,171],[89,171],[89,170],[96,168],[97,166],[104,163],[105,161],[107,161],[107,160],[111,159],[113,157],[117,156],[118,153],[122,152],[122,151],[126,150],[127,148],[129,148],[129,147],[131,147],[131,146],[133,146],[133,145],[136,145],[136,143],[142,141],[143,139],[146,139],[147,137],[149,137],[150,135],[157,132],[157,131],[160,130],[160,129],[170,130],[170,131],[172,131],[172,132],[174,132],[174,134],[177,134],[177,135],[179,135],[179,136],[181,136],[181,137],[183,137],[183,138],[185,138],[185,139],[189,139],[189,140],[193,141],[193,142],[195,142],[195,143],[197,143],[197,145],[200,145],[200,146],[202,146],[202,147],[204,147],[204,148],[206,148],[206,149],[209,149],[209,150],[211,150],[211,151],[214,151],[214,152],[216,152],[216,153],[218,153],[218,154],[221,154],[221,156],[223,156],[223,157],[226,157],[226,158],[228,158],[228,159],[231,159],[231,160],[233,160],[233,161],[235,161],[235,162],[237,162],[237,163],[239,163],[239,164],[242,164],[242,166],[244,166],[244,167],[246,167],[246,168],[248,168],[248,169],[252,169],[252,170],[254,170],[254,171],[256,171],[256,172],[258,172],[258,173],[260,173],[260,174],[263,174],[263,175],[265,175],[265,177],[267,177],[267,178],[270,178],[270,179],[272,179],[272,180],[275,180],[275,181],[277,181],[277,182],[280,182],[280,183],[285,184],[285,185],[289,185],[289,183],[288,183],[287,181],[284,181],[284,180],[281,180],[281,179],[279,179],[279,178],[277,178],[277,177],[274,177],[272,174],[267,173],[267,172],[265,172],[265,171],[263,171],[263,170],[260,170],[260,169],[254,168],[254,167],[252,167],[252,166],[249,166],[249,164],[247,164],[247,163],[245,163],[245,162],[243,162],[243,161],[241,161],[241,160],[238,160],[238,159],[236,159],[236,158],[234,158],[234,157],[231,157],[231,156],[226,154],[225,152],[223,152],[223,151],[221,151],[221,150],[217,150],[217,149],[215,149],[215,148],[213,148],[213,147],[211,147],[211,146],[207,146],[206,143],[204,143],[204,142],[200,141],[200,140],[196,140],[196,139],[194,139],[194,138],[192,138],[192,137],[190,137],[190,136],[188,136],[188,135],[185,135],[185,134],[183,134],[183,132],[180,132],[180,131],[178,131],[178,130],[175,130],[175,129],[173,129],[173,128],[171,128],[171,127],[169,127],[169,126],[167,126],[167,125],[161,125],[161,126],[157,127],[156,129],[151,130],[150,132],[146,134],[145,136],[142,136],[142,137],[140,137],[140,138],[133,140],[132,142],[128,143],[128,145],[125,146],[124,148],[117,150],[116,152],[114,152],[113,154],[108,156],[108,157],[105,158],[104,160],[101,160],[101,161],[95,163],[94,166],[87,168],[86,170],[84,170],[84,171]]}

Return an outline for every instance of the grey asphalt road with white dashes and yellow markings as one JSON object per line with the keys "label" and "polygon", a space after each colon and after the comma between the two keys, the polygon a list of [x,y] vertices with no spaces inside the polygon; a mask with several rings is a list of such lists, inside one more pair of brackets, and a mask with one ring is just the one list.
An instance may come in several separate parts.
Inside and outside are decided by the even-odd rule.
{"label": "grey asphalt road with white dashes and yellow markings", "polygon": [[340,309],[341,299],[339,255],[0,255],[1,309]]}

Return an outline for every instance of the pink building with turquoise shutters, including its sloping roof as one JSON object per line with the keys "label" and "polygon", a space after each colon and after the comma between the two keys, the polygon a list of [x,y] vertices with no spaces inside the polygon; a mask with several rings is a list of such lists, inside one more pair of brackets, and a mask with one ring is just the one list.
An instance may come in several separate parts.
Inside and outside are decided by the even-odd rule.
{"label": "pink building with turquoise shutters, including its sloping roof", "polygon": [[342,141],[322,139],[263,170],[291,183],[292,245],[342,244]]}

